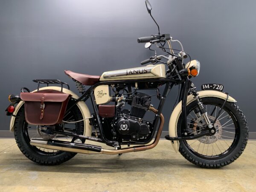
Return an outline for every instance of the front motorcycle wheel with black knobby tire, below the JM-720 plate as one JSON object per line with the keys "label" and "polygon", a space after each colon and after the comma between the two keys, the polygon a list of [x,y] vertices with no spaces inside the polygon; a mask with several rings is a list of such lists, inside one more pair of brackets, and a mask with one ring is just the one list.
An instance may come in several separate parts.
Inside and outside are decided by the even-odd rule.
{"label": "front motorcycle wheel with black knobby tire, below the JM-720 plate", "polygon": [[[209,120],[213,122],[224,103],[215,97],[201,98]],[[187,106],[188,136],[200,134],[206,127],[203,116],[195,114],[197,101]],[[226,102],[215,122],[216,133],[195,140],[180,141],[179,151],[187,160],[204,168],[219,168],[236,160],[244,151],[248,140],[248,125],[244,114],[234,102]],[[177,123],[178,136],[183,135],[182,116]]]}

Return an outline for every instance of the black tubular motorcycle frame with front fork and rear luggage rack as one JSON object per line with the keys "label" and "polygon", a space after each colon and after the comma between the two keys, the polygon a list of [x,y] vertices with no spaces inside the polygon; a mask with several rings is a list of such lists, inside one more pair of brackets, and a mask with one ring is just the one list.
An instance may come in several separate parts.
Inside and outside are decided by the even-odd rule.
{"label": "black tubular motorcycle frame with front fork and rear luggage rack", "polygon": [[[116,141],[112,141],[112,140],[108,140],[105,137],[104,134],[104,130],[102,128],[102,123],[99,117],[99,113],[98,113],[98,108],[96,105],[96,100],[93,94],[93,90],[95,87],[99,86],[99,85],[111,85],[111,84],[117,84],[117,85],[131,85],[131,84],[135,84],[135,83],[156,83],[157,86],[153,86],[153,87],[145,87],[143,89],[152,89],[152,88],[157,88],[160,85],[164,85],[165,84],[165,88],[163,91],[163,94],[160,98],[160,102],[159,105],[157,107],[157,114],[156,117],[154,118],[154,122],[153,122],[153,131],[150,137],[147,137],[146,140],[143,141],[122,141],[119,142],[119,145],[145,145],[149,142],[151,142],[151,140],[154,137],[154,133],[155,131],[158,131],[157,125],[160,119],[160,114],[162,113],[163,110],[163,105],[164,102],[166,100],[166,97],[168,96],[170,90],[172,90],[172,87],[174,85],[178,85],[181,84],[181,89],[180,89],[180,93],[179,93],[179,99],[178,102],[182,101],[182,118],[183,118],[183,125],[186,125],[186,100],[187,100],[187,96],[189,94],[189,87],[191,85],[191,81],[189,80],[188,76],[180,76],[180,74],[178,73],[178,71],[184,69],[183,64],[181,64],[180,60],[178,58],[176,58],[174,61],[172,61],[171,63],[167,64],[169,70],[166,71],[166,78],[160,78],[160,79],[137,79],[137,80],[116,80],[116,81],[99,81],[98,83],[92,85],[91,87],[89,87],[86,91],[81,92],[82,95],[78,98],[78,99],[74,99],[75,102],[74,104],[68,108],[66,110],[65,113],[68,113],[70,111],[71,108],[73,108],[78,102],[80,101],[84,101],[86,102],[87,99],[91,99],[92,105],[93,105],[93,112],[94,112],[94,116],[93,119],[96,119],[96,125],[98,125],[99,128],[99,133],[101,135],[101,138],[96,138],[96,137],[87,137],[87,136],[82,136],[82,135],[76,135],[76,134],[69,134],[69,133],[65,133],[65,132],[58,132],[58,134],[64,134],[64,135],[70,135],[73,137],[77,137],[77,138],[82,138],[82,139],[87,139],[87,140],[93,140],[96,142],[100,142],[100,143],[105,143],[107,145],[113,146],[114,143]],[[174,70],[175,69],[175,70]],[[38,89],[40,84],[47,84],[47,86],[49,86],[49,84],[60,84],[61,85],[61,91],[63,90],[63,84],[65,84],[67,86],[67,88],[69,89],[69,85],[67,83],[64,83],[58,79],[34,79],[34,82],[36,82],[38,84]],[[131,85],[133,86],[133,85]],[[23,87],[21,92],[23,92],[23,89],[26,89],[28,92],[30,92],[30,90],[28,90],[26,87]],[[14,116],[14,115],[13,115]],[[92,125],[94,124],[91,121]],[[182,126],[184,127],[184,129],[186,130],[186,126]],[[188,137],[186,137],[188,138]],[[166,136],[167,140],[185,140],[185,137],[182,137],[182,139],[180,137],[169,137]],[[191,138],[192,139],[192,138]],[[195,138],[194,138],[195,139]]]}

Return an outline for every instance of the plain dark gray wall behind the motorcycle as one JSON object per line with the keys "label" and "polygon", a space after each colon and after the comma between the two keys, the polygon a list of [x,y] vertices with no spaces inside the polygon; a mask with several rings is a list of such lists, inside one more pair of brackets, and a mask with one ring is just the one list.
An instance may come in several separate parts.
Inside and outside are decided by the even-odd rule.
{"label": "plain dark gray wall behind the motorcycle", "polygon": [[[195,85],[224,84],[256,131],[256,105],[248,98],[256,94],[256,1],[150,1],[161,32],[201,62]],[[156,33],[144,0],[0,0],[0,130],[9,129],[9,93],[33,90],[32,79],[40,78],[61,79],[76,90],[64,69],[100,75],[140,66],[152,52],[137,37]],[[163,110],[165,130],[176,93]]]}

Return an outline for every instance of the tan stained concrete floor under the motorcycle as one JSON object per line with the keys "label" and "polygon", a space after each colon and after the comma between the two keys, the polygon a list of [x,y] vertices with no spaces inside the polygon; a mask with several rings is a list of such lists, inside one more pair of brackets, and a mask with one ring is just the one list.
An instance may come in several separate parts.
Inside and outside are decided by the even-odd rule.
{"label": "tan stained concrete floor under the motorcycle", "polygon": [[201,169],[176,154],[169,141],[118,155],[77,154],[60,166],[28,160],[15,140],[0,140],[0,191],[255,191],[256,141],[220,169]]}

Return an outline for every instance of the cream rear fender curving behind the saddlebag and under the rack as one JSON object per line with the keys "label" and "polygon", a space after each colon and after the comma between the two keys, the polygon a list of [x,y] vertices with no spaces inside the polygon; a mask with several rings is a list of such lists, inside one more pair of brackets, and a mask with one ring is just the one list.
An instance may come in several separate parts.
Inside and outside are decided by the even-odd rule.
{"label": "cream rear fender curving behind the saddlebag and under the rack", "polygon": [[[39,90],[46,90],[46,89],[53,89],[53,90],[61,91],[61,87],[55,87],[55,86],[42,87]],[[37,91],[37,90],[34,90],[32,92],[35,92],[35,91]],[[79,98],[79,96],[77,96],[76,93],[74,93],[71,90],[63,88],[62,92],[70,94],[74,99]],[[17,112],[19,111],[19,109],[23,105],[23,103],[24,103],[23,101],[20,101],[18,103],[18,105],[15,108],[15,111],[13,112],[14,115],[17,114]],[[88,118],[88,117],[91,116],[90,111],[89,111],[87,105],[84,102],[82,102],[82,101],[78,102],[77,106],[79,107],[79,109],[82,113],[83,119]],[[11,122],[10,122],[10,131],[11,132],[13,132],[13,129],[14,129],[14,122],[15,122],[15,117],[12,116]],[[84,120],[84,136],[91,136],[91,133],[92,133],[92,126],[90,125],[89,119],[85,119]]]}

